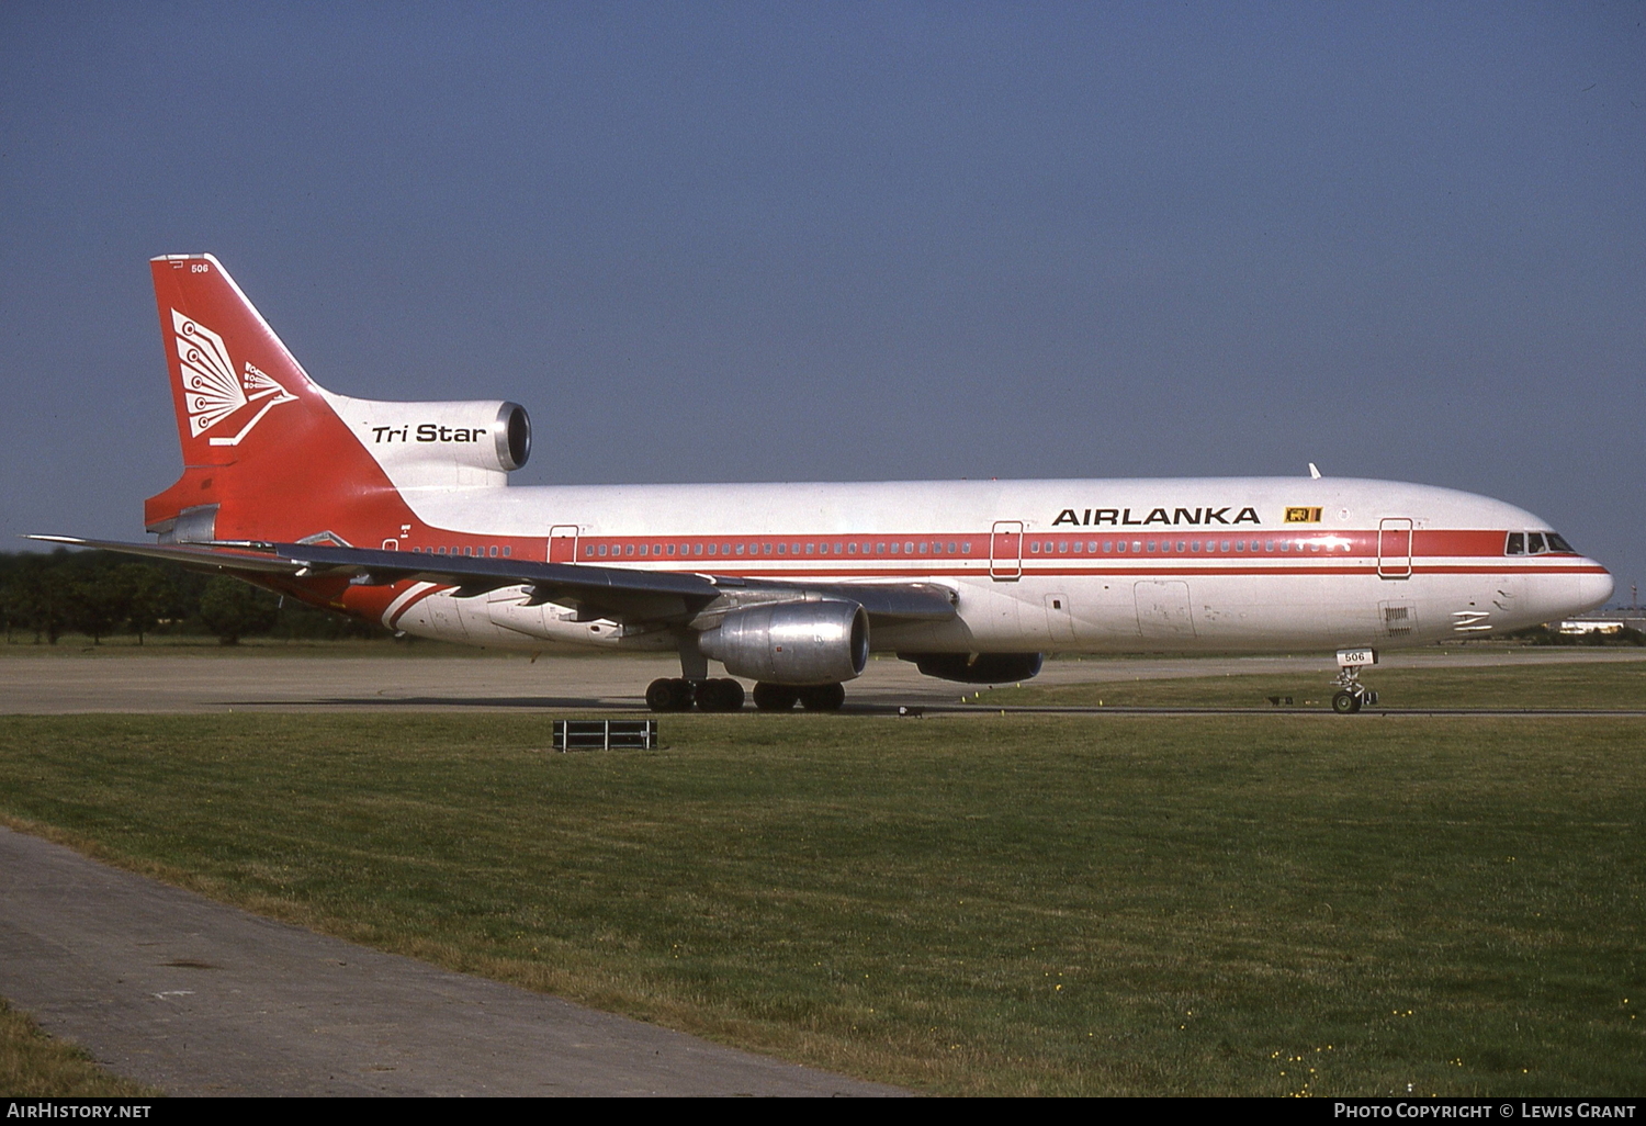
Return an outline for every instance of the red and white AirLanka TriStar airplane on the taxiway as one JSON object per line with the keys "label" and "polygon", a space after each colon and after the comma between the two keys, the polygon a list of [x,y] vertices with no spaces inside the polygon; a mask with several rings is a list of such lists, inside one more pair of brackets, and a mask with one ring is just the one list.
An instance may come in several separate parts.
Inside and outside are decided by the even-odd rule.
{"label": "red and white AirLanka TriStar airplane on the taxiway", "polygon": [[[1603,604],[1611,575],[1539,517],[1452,489],[1322,477],[510,486],[510,402],[326,390],[209,254],[150,262],[183,474],[150,543],[418,637],[662,650],[655,711],[833,711],[871,652],[1006,683],[1058,652],[1337,650],[1332,706],[1386,649]],[[709,662],[729,677],[709,677]]]}

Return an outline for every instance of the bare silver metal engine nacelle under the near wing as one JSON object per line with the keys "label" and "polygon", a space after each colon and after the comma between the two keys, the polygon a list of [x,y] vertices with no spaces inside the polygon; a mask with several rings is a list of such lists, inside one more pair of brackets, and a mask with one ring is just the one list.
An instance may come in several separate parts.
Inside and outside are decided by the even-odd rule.
{"label": "bare silver metal engine nacelle under the near wing", "polygon": [[856,603],[777,603],[732,611],[698,649],[734,677],[775,685],[831,685],[863,675],[869,614]]}

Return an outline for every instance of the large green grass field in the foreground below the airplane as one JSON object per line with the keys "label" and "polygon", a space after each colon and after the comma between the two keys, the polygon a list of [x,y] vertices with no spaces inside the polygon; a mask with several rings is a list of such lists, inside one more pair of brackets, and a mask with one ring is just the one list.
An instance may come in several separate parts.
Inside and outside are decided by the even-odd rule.
{"label": "large green grass field in the foreground below the airplane", "polygon": [[0,813],[943,1093],[1646,1091],[1646,721],[0,719]]}

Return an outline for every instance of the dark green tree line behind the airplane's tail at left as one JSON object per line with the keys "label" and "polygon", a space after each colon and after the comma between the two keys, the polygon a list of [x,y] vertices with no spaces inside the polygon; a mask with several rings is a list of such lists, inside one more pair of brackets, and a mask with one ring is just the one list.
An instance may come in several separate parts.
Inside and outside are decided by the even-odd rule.
{"label": "dark green tree line behind the airplane's tail at left", "polygon": [[337,639],[388,637],[369,622],[328,614],[222,575],[117,551],[0,553],[0,617],[7,644],[56,645],[84,634]]}

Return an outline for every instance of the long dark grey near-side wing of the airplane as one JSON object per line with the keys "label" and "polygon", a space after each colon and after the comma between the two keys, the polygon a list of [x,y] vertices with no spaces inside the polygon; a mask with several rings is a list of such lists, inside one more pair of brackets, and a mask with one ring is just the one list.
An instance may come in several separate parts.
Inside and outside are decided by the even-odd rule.
{"label": "long dark grey near-side wing of the airplane", "polygon": [[28,538],[170,560],[198,571],[281,575],[296,579],[346,575],[365,586],[402,579],[441,583],[456,586],[456,598],[525,586],[530,603],[573,606],[589,617],[625,622],[686,622],[716,603],[734,609],[754,603],[805,599],[858,603],[871,621],[879,622],[948,621],[956,614],[953,591],[932,583],[808,584],[586,563],[380,551],[329,543],[120,543],[66,535]]}

